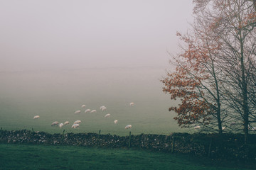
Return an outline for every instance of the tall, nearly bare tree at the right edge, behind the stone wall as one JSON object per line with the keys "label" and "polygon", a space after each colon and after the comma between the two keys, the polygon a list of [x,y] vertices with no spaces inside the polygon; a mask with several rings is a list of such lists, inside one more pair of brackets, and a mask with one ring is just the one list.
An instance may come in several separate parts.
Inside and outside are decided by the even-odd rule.
{"label": "tall, nearly bare tree at the right edge, behind the stone wall", "polygon": [[209,32],[220,46],[218,69],[225,106],[233,118],[242,120],[245,143],[250,118],[254,117],[255,84],[255,1],[194,0],[195,13],[201,21],[211,21]]}

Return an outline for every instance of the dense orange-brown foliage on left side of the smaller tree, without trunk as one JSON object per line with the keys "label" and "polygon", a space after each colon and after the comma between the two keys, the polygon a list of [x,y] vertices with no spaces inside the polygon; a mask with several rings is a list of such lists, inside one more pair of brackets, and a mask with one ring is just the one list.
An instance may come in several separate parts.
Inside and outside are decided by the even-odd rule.
{"label": "dense orange-brown foliage on left side of the smaller tree, without trunk", "polygon": [[[178,107],[171,107],[177,116],[174,118],[181,127],[188,127],[192,123],[210,123],[210,114],[213,105],[204,99],[202,82],[209,79],[205,63],[209,62],[209,47],[196,44],[195,40],[177,35],[186,42],[187,49],[174,58],[176,72],[167,73],[161,80],[164,84],[163,91],[171,94],[171,100],[181,99]],[[215,47],[213,47],[213,50]]]}

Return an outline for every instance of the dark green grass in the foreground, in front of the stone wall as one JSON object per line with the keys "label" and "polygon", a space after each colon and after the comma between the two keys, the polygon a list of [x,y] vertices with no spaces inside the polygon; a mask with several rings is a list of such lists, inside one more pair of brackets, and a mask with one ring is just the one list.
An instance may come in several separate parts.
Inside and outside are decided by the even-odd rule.
{"label": "dark green grass in the foreground, in front of the stone wall", "polygon": [[242,164],[134,149],[0,144],[0,169],[243,169]]}

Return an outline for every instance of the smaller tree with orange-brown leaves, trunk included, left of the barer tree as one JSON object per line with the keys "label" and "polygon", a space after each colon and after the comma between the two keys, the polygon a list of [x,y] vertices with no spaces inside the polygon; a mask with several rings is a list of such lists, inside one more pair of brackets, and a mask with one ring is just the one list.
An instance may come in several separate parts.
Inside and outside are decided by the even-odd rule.
{"label": "smaller tree with orange-brown leaves, trunk included, left of the barer tree", "polygon": [[167,73],[161,80],[163,91],[171,94],[172,100],[181,100],[178,107],[173,106],[169,111],[177,113],[174,119],[181,127],[200,124],[205,130],[217,128],[221,134],[220,91],[215,70],[218,45],[210,45],[200,37],[177,35],[186,47],[180,55],[173,56],[171,63],[176,65],[176,72]]}

